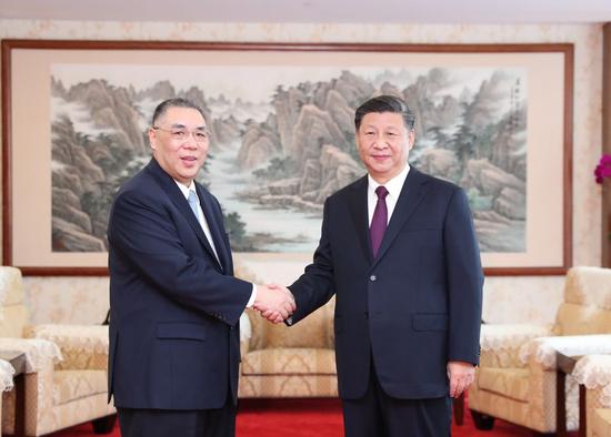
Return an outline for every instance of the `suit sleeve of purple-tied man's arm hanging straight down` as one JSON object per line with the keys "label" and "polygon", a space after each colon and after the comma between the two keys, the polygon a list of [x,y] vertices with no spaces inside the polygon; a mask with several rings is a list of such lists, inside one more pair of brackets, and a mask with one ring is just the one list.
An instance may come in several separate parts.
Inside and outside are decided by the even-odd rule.
{"label": "suit sleeve of purple-tied man's arm hanging straight down", "polygon": [[454,192],[443,225],[450,306],[449,359],[479,364],[483,273],[469,202]]}

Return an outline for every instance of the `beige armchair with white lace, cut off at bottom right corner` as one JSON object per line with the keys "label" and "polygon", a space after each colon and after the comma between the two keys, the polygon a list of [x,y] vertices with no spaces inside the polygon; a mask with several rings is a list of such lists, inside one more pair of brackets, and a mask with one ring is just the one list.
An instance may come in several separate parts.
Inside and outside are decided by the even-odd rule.
{"label": "beige armchair with white lace, cut off at bottom right corner", "polygon": [[585,386],[587,436],[611,436],[611,355],[581,358],[573,376]]}

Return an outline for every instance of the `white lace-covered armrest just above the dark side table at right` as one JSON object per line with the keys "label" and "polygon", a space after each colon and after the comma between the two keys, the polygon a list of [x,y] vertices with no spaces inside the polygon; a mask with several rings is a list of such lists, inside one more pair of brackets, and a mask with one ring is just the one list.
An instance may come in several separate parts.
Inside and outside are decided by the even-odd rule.
{"label": "white lace-covered armrest just above the dark side table at right", "polygon": [[558,352],[568,356],[611,354],[611,334],[535,338],[521,347],[520,359],[543,370],[554,370]]}

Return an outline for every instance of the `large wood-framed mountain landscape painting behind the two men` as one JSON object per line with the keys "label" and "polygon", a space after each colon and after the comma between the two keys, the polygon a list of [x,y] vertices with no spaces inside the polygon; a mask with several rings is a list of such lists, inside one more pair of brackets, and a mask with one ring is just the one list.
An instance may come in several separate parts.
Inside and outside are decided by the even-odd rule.
{"label": "large wood-framed mountain landscape painting behind the two men", "polygon": [[465,190],[487,274],[562,274],[572,87],[571,44],[3,40],[3,263],[107,274],[113,195],[176,96],[207,114],[233,251],[307,261],[324,200],[365,174],[354,110],[385,93],[415,113],[410,165]]}

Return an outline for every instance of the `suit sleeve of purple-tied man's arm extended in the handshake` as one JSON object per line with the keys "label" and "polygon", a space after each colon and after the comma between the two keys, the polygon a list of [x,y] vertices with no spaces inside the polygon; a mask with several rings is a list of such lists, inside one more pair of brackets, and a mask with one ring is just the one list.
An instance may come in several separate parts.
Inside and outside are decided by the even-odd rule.
{"label": "suit sleeve of purple-tied man's arm extended in the handshake", "polygon": [[299,322],[310,313],[324,305],[335,293],[333,286],[333,260],[329,242],[329,200],[324,202],[322,230],[312,264],[289,289],[293,294],[297,311],[291,317],[291,324]]}

